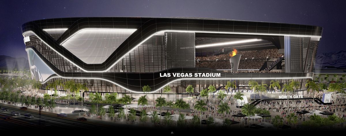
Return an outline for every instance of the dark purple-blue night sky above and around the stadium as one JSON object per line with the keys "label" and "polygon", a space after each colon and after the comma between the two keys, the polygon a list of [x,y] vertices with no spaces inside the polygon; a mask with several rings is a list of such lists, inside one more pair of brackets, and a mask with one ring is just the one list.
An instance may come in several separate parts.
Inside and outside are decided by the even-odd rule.
{"label": "dark purple-blue night sky above and around the stadium", "polygon": [[27,58],[21,25],[64,17],[207,17],[314,25],[323,27],[318,54],[346,50],[346,0],[99,1],[1,0],[0,55]]}

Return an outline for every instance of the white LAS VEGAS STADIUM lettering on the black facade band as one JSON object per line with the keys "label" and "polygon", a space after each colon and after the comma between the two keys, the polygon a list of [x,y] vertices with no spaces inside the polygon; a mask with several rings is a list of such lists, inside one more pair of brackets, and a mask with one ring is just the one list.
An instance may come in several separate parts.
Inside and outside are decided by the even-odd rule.
{"label": "white LAS VEGAS STADIUM lettering on the black facade band", "polygon": [[160,77],[220,77],[221,73],[160,73]]}

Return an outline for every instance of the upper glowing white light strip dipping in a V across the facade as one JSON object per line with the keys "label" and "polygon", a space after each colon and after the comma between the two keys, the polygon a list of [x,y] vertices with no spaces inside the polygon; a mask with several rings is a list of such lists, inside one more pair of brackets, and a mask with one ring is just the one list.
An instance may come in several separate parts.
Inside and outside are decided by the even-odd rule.
{"label": "upper glowing white light strip dipping in a V across the facade", "polygon": [[[96,28],[95,28],[96,29]],[[34,33],[33,31],[29,30],[23,33],[23,35],[25,35],[26,33]],[[216,31],[181,31],[181,30],[162,30],[162,31],[157,31],[156,33],[150,35],[148,38],[142,40],[142,42],[140,42],[138,45],[136,45],[135,47],[131,48],[125,55],[119,57],[117,59],[117,61],[115,63],[113,63],[112,65],[109,66],[108,69],[104,70],[104,71],[87,71],[82,69],[80,66],[76,65],[75,63],[73,63],[72,61],[70,61],[69,59],[67,59],[65,56],[61,55],[60,53],[58,53],[55,49],[53,49],[51,46],[49,46],[46,42],[44,42],[39,36],[36,35],[36,33],[34,33],[40,40],[42,40],[43,43],[45,43],[48,47],[52,48],[53,51],[57,52],[59,55],[61,55],[62,57],[64,57],[66,60],[70,61],[72,64],[74,64],[75,66],[77,66],[78,68],[80,68],[81,70],[83,70],[84,72],[106,72],[108,70],[110,70],[114,65],[116,65],[121,58],[124,58],[127,54],[129,54],[131,51],[133,51],[136,47],[138,47],[139,45],[143,44],[146,40],[148,40],[149,38],[153,37],[154,35],[158,34],[158,33],[162,33],[162,32],[177,32],[177,33],[216,33],[216,34],[246,34],[246,35],[274,35],[274,36],[298,36],[298,37],[319,37],[321,38],[321,36],[307,36],[307,35],[283,35],[283,34],[257,34],[257,33],[234,33],[234,32],[216,32]]]}

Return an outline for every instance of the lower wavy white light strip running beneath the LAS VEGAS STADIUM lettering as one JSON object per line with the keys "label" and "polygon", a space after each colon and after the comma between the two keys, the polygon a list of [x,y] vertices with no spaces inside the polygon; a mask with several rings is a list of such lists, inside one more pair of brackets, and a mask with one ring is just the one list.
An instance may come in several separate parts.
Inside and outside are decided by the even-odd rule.
{"label": "lower wavy white light strip running beneath the LAS VEGAS STADIUM lettering", "polygon": [[[25,49],[26,51],[29,50],[31,48],[27,48]],[[33,50],[33,49],[31,49]],[[34,51],[34,50],[33,50]],[[38,54],[34,51],[34,53],[38,56]],[[40,58],[40,57],[38,57]],[[41,58],[40,58],[41,59]],[[42,59],[41,59],[42,60]],[[43,61],[43,60],[42,60]],[[43,61],[44,62],[44,61]],[[44,62],[45,63],[45,62]],[[46,63],[45,63],[46,64]],[[47,67],[49,67],[47,64],[46,64]],[[51,69],[51,67],[49,67],[49,69]],[[52,69],[51,69],[52,70]],[[53,71],[53,70],[52,70]],[[54,71],[53,71],[54,72]],[[115,85],[118,85],[119,87],[125,89],[125,90],[128,90],[130,92],[134,92],[134,93],[154,93],[162,88],[164,88],[166,85],[169,85],[171,84],[172,82],[175,82],[175,81],[178,81],[178,80],[256,80],[256,79],[260,79],[260,80],[265,80],[265,79],[312,79],[312,77],[291,77],[291,78],[182,78],[182,79],[175,79],[173,81],[170,81],[169,83],[163,85],[162,87],[160,87],[159,89],[156,89],[154,91],[151,91],[151,92],[138,92],[138,91],[133,91],[133,90],[129,90],[125,87],[123,87],[122,85],[119,85],[113,81],[110,81],[110,80],[107,80],[107,79],[102,79],[102,78],[88,78],[88,77],[81,77],[81,78],[76,78],[76,77],[65,77],[65,76],[61,76],[59,74],[57,74],[56,72],[54,72],[56,75],[58,76],[52,76],[51,78],[48,78],[46,79],[44,82],[41,82],[42,84],[46,83],[48,80],[51,80],[52,78],[64,78],[64,79],[99,79],[99,80],[104,80],[104,81],[108,81],[110,83],[113,83]]]}

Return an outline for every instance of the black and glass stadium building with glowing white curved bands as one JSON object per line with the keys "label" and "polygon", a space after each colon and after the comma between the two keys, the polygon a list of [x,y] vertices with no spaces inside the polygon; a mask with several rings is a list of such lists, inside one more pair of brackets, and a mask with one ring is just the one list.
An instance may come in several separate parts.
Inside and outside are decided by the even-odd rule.
{"label": "black and glass stadium building with glowing white curved bands", "polygon": [[[179,94],[190,84],[199,92],[227,81],[246,89],[249,80],[269,85],[293,79],[303,90],[313,76],[322,28],[209,18],[83,17],[30,21],[22,34],[31,74],[42,88],[60,79],[86,83],[89,92],[143,93],[149,85],[149,93],[157,94],[170,85],[171,93]],[[221,59],[235,49],[243,53],[238,72],[229,71],[230,57]]]}

